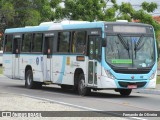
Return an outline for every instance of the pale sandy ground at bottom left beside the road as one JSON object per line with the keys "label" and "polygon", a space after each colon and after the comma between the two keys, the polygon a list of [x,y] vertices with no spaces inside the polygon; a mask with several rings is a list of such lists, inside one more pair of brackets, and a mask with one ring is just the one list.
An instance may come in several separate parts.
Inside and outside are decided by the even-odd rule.
{"label": "pale sandy ground at bottom left beside the road", "polygon": [[[124,120],[125,118],[118,118],[118,117],[41,117],[41,115],[37,115],[36,117],[28,117],[29,114],[35,113],[42,113],[51,114],[50,111],[59,111],[63,113],[63,111],[68,111],[67,116],[71,116],[74,112],[71,111],[84,111],[80,108],[74,108],[67,105],[58,104],[55,102],[49,102],[45,100],[39,100],[35,98],[30,98],[24,95],[18,95],[14,93],[6,93],[0,91],[0,116],[2,116],[2,112],[5,114],[8,112],[12,114],[13,117],[3,116],[0,117],[0,120]],[[18,112],[18,113],[16,113]],[[21,114],[21,112],[25,112]],[[57,112],[57,113],[59,113]],[[56,113],[56,114],[57,114]],[[79,114],[81,114],[79,112]],[[27,116],[27,117],[26,117]]]}

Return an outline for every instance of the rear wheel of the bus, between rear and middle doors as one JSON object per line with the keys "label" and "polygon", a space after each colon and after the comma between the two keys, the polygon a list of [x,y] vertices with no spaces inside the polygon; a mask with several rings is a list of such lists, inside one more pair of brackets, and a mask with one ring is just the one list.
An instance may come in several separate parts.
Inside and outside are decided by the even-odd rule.
{"label": "rear wheel of the bus, between rear and middle doors", "polygon": [[29,89],[35,88],[35,82],[33,81],[32,70],[28,70],[26,73],[25,87]]}

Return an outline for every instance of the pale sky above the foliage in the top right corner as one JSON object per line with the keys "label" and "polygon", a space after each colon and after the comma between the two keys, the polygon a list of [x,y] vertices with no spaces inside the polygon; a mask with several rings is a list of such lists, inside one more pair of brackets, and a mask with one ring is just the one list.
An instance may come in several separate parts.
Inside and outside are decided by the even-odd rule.
{"label": "pale sky above the foliage in the top right corner", "polygon": [[155,2],[158,5],[158,8],[151,13],[153,16],[160,16],[160,0],[117,0],[118,4],[121,4],[122,2],[130,2],[135,9],[140,9],[139,5],[141,5],[142,2]]}

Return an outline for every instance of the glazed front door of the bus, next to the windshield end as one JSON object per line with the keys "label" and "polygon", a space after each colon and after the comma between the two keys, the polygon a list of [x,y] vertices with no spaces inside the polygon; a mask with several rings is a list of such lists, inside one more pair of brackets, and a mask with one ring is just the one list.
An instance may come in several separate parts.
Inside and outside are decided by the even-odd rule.
{"label": "glazed front door of the bus, next to the windshield end", "polygon": [[89,36],[89,51],[88,51],[88,84],[97,86],[97,62],[99,57],[99,36]]}

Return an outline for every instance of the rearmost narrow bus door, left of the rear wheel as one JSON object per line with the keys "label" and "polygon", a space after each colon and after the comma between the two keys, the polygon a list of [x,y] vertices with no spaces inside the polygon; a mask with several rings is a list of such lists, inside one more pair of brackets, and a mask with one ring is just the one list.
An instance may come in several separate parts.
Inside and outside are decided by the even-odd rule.
{"label": "rearmost narrow bus door, left of the rear wheel", "polygon": [[20,46],[21,46],[21,35],[15,35],[13,39],[13,78],[20,78]]}

